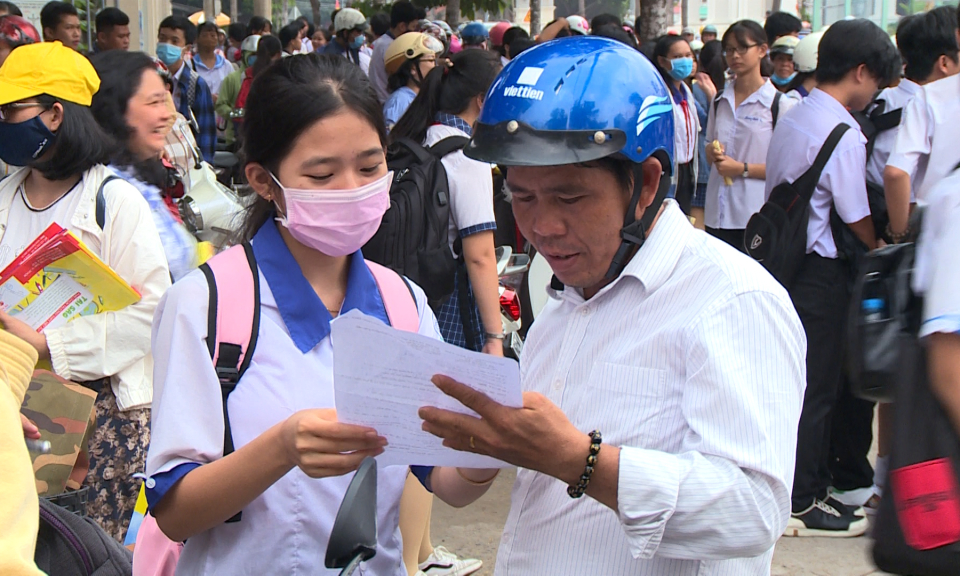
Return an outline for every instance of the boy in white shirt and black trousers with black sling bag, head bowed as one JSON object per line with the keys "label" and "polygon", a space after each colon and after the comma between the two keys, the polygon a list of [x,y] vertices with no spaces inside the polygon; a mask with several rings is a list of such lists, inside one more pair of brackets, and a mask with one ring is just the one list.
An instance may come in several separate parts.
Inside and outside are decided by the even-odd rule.
{"label": "boy in white shirt and black trousers with black sling bag, head bowed", "polygon": [[[830,213],[867,247],[875,245],[866,189],[866,138],[848,110],[862,110],[899,73],[899,57],[876,24],[834,24],[820,41],[818,87],[777,123],[767,152],[766,193],[812,164],[838,124],[850,129],[827,162],[810,201],[807,255],[790,296],[807,335],[807,388],[797,435],[793,515],[787,536],[859,536],[867,520],[829,497],[826,447],[840,393],[843,324],[852,271],[841,260]],[[838,415],[847,417],[847,414]],[[869,433],[869,429],[867,430]]]}

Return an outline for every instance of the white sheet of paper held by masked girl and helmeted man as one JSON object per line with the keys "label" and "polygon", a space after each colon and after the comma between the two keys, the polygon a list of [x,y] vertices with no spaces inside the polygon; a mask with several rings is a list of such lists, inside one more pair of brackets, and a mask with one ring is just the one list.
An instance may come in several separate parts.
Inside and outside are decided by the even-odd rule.
{"label": "white sheet of paper held by masked girl and helmeted man", "polygon": [[506,406],[522,406],[520,368],[497,358],[446,344],[426,336],[394,330],[376,318],[352,310],[331,325],[333,384],[337,419],[370,426],[389,445],[377,460],[381,466],[459,466],[504,468],[508,464],[443,446],[420,429],[417,411],[436,406],[477,414],[440,392],[430,381],[449,376]]}

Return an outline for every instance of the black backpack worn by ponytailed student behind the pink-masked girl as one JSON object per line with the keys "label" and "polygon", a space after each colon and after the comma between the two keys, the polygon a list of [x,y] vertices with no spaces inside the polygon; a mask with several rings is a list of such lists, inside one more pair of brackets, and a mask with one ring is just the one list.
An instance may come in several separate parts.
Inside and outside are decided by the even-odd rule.
{"label": "black backpack worn by ponytailed student behind the pink-masked girl", "polygon": [[468,138],[450,136],[425,148],[400,138],[387,152],[393,170],[390,208],[364,257],[406,276],[439,308],[453,294],[457,261],[450,253],[450,187],[440,160],[466,146]]}

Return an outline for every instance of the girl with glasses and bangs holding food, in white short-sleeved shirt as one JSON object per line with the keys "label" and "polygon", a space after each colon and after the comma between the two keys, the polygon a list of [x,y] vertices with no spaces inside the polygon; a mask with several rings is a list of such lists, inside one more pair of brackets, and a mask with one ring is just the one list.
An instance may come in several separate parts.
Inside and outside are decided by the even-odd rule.
{"label": "girl with glasses and bangs holding food, in white short-sleeved shirt", "polygon": [[[760,75],[767,36],[753,20],[734,23],[723,34],[727,64],[736,78],[710,103],[707,121],[707,232],[744,250],[743,229],[765,199],[767,148],[777,119],[797,102],[783,97]],[[721,151],[713,146],[720,142]]]}

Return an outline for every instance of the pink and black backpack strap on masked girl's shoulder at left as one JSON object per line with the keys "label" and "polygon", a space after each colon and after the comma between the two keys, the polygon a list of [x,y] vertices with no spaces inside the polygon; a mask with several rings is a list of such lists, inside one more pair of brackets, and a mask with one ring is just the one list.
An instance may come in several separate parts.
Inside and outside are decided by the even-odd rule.
{"label": "pink and black backpack strap on masked girl's shoulder at left", "polygon": [[[233,246],[200,270],[207,279],[207,349],[223,398],[223,455],[233,452],[227,399],[250,367],[260,332],[260,273],[249,243]],[[227,520],[237,522],[241,512]]]}

